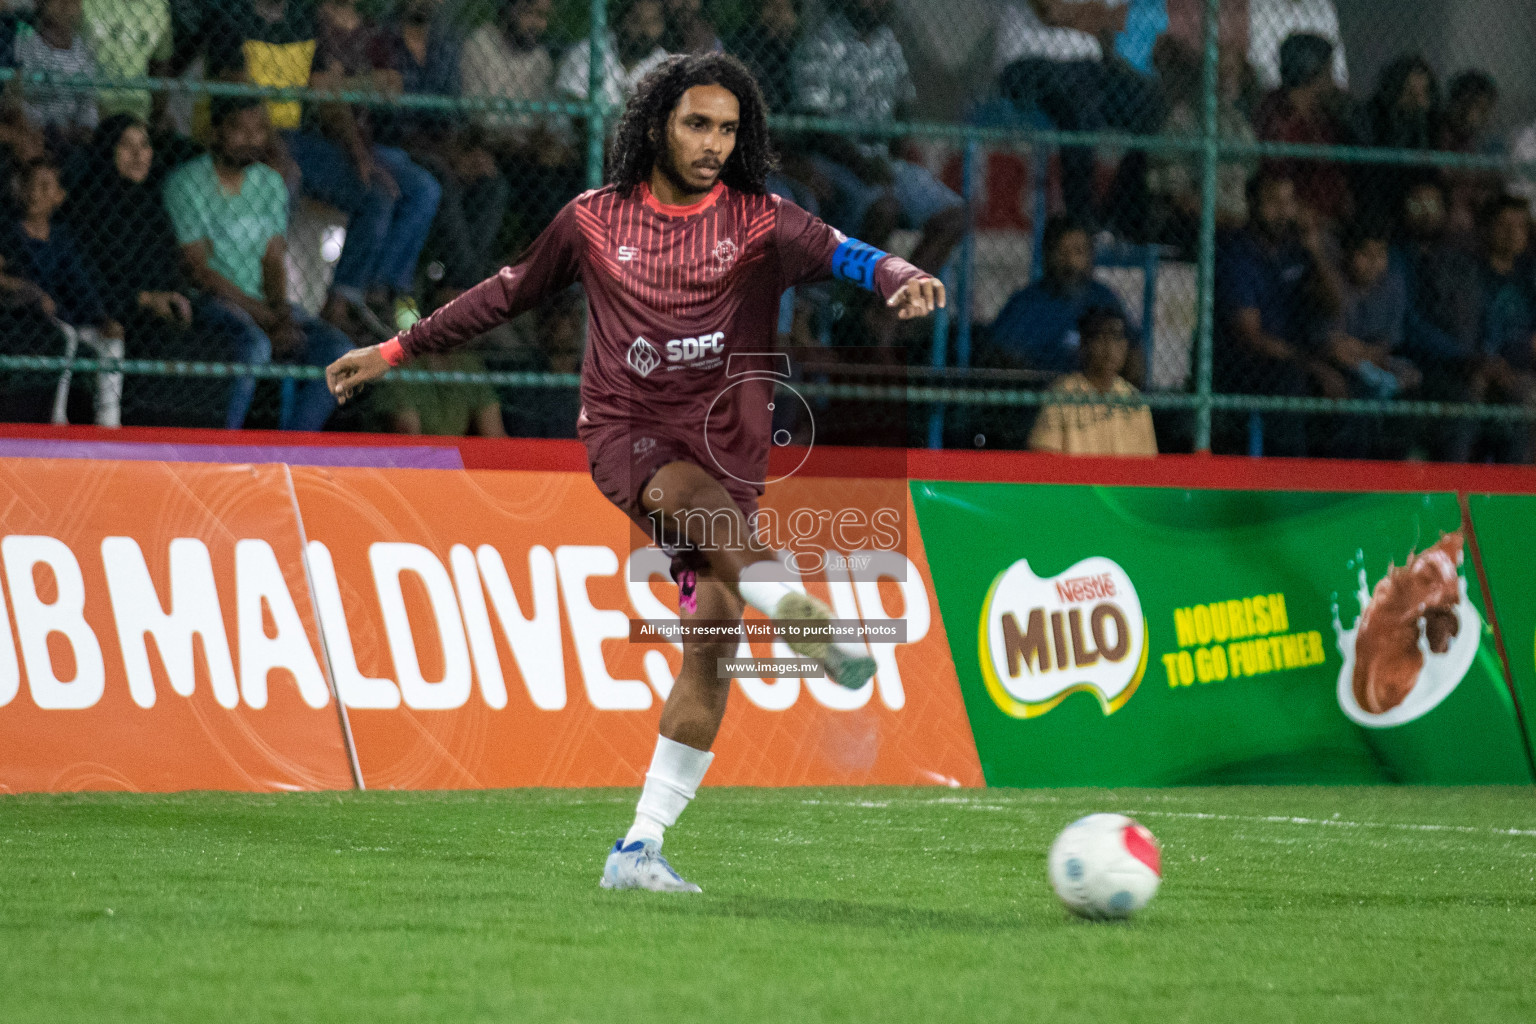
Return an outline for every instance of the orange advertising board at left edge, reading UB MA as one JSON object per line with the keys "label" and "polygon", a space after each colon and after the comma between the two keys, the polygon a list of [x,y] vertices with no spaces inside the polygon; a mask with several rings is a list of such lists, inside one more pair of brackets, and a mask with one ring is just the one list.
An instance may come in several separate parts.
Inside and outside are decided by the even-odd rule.
{"label": "orange advertising board at left edge, reading UB MA", "polygon": [[0,459],[0,792],[353,785],[287,467]]}

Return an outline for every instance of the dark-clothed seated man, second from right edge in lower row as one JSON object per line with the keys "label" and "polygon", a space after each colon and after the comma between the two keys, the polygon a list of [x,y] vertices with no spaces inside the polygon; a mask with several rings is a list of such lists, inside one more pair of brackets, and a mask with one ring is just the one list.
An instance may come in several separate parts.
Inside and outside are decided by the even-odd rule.
{"label": "dark-clothed seated man, second from right edge in lower row", "polygon": [[[1436,178],[1409,187],[1398,233],[1392,266],[1409,301],[1404,352],[1424,375],[1422,398],[1468,402],[1482,330],[1482,284],[1476,259],[1448,239],[1445,187]],[[1436,462],[1465,462],[1475,436],[1475,424],[1436,421],[1425,425],[1422,447]]]}

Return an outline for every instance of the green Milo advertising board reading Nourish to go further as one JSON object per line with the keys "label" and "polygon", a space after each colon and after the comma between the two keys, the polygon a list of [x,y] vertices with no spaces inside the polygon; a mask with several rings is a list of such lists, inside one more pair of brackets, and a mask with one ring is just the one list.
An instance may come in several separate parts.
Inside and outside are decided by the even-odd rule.
{"label": "green Milo advertising board reading Nourish to go further", "polygon": [[989,785],[1533,781],[1455,494],[912,499]]}

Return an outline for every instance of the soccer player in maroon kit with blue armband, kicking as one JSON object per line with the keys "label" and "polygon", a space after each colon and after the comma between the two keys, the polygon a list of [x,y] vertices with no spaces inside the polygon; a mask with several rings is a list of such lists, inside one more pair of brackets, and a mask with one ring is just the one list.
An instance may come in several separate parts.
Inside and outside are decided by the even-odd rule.
{"label": "soccer player in maroon kit with blue armband, kicking", "polygon": [[[568,203],[516,266],[333,362],[330,390],[346,401],[390,367],[467,342],[581,281],[590,341],[576,433],[598,488],[671,556],[684,623],[736,622],[743,603],[776,622],[831,617],[783,582],[777,554],[748,527],[763,491],[751,481],[766,479],[773,381],[728,384],[730,356],[773,350],[779,298],[796,284],[839,276],[880,293],[902,319],[943,306],[945,289],[768,195],[774,163],[762,94],[734,57],[668,58],[624,112],[610,186]],[[713,539],[722,519],[727,543]],[[604,887],[699,892],[662,857],[662,835],[714,758],[731,685],[716,659],[733,657],[736,643],[684,639],[634,824],[608,854]],[[863,642],[819,637],[790,649],[848,688],[874,676]]]}

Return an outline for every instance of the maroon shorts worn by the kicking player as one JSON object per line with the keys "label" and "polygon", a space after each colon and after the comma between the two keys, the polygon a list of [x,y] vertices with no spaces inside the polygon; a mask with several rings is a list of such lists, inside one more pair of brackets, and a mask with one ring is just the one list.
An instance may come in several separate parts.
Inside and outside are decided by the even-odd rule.
{"label": "maroon shorts worn by the kicking player", "polygon": [[702,445],[696,447],[685,438],[630,424],[582,425],[578,436],[587,445],[587,464],[591,467],[591,479],[598,490],[656,547],[671,556],[671,577],[679,583],[685,570],[699,573],[708,568],[710,560],[703,551],[677,536],[657,536],[656,520],[647,516],[645,507],[641,505],[641,493],[656,470],[668,462],[693,462],[720,482],[748,522],[757,513],[757,488],[722,473],[707,451],[697,450]]}

